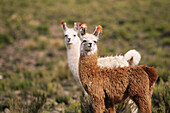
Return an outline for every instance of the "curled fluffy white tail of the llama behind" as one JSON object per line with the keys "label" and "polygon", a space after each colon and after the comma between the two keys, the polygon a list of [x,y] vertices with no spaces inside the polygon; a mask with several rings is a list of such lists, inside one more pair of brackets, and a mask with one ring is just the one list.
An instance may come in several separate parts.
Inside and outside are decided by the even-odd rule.
{"label": "curled fluffy white tail of the llama behind", "polygon": [[141,55],[135,49],[129,50],[125,55],[124,58],[129,62],[129,65],[138,65],[141,59]]}

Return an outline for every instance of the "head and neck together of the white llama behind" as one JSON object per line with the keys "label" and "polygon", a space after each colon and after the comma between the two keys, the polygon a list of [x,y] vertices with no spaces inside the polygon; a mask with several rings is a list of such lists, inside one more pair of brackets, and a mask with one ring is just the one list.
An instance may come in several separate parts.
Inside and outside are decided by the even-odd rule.
{"label": "head and neck together of the white llama behind", "polygon": [[67,58],[69,68],[75,80],[80,83],[78,76],[78,62],[80,56],[80,38],[78,37],[79,23],[74,23],[74,28],[68,28],[66,23],[61,22],[61,27],[65,35],[65,45],[67,48]]}

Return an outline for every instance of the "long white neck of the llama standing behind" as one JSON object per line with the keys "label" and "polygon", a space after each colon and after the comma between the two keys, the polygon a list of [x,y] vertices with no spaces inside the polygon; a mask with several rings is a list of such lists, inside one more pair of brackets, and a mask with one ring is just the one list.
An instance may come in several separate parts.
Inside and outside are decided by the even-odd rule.
{"label": "long white neck of the llama standing behind", "polygon": [[68,65],[76,81],[79,81],[78,63],[80,57],[80,43],[81,41],[77,40],[77,42],[74,42],[74,44],[67,45]]}

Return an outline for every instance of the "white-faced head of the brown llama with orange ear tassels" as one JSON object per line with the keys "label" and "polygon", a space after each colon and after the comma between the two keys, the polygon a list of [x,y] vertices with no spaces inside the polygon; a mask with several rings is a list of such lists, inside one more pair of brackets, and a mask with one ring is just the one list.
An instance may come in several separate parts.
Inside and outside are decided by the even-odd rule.
{"label": "white-faced head of the brown llama with orange ear tassels", "polygon": [[98,25],[93,34],[86,33],[86,30],[87,26],[82,24],[80,28],[80,37],[82,38],[80,54],[92,55],[97,52],[97,41],[99,39],[99,34],[102,32],[102,27]]}

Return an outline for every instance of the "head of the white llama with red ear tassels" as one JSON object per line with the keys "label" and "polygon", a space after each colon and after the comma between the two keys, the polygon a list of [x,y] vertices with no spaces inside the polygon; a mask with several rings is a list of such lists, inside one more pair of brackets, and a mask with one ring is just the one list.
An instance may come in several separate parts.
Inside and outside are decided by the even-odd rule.
{"label": "head of the white llama with red ear tassels", "polygon": [[64,31],[65,35],[65,44],[66,46],[70,46],[72,44],[76,44],[80,39],[78,37],[80,23],[75,22],[74,28],[68,28],[65,22],[61,22],[61,27]]}

